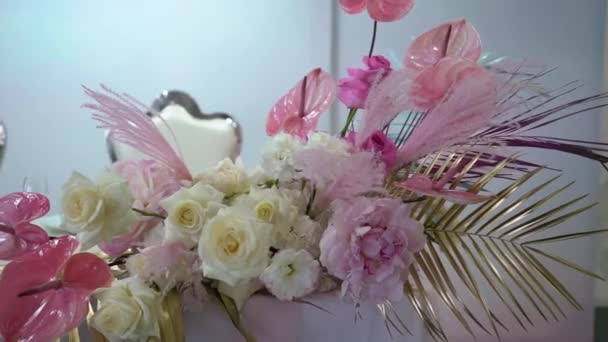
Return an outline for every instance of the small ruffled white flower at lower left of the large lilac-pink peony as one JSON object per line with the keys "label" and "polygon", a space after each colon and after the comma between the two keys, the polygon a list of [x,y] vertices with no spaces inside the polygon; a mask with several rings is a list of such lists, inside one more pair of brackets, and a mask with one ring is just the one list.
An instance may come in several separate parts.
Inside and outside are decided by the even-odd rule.
{"label": "small ruffled white flower at lower left of the large lilac-pink peony", "polygon": [[310,253],[285,249],[272,258],[260,279],[275,297],[290,301],[311,294],[320,274],[321,266]]}

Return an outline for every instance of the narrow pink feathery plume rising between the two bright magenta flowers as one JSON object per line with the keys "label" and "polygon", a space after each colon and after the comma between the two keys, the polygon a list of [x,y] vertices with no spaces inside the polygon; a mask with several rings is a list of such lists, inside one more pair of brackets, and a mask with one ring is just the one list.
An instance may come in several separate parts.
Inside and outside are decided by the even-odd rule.
{"label": "narrow pink feathery plume rising between the two bright magenta flowers", "polygon": [[357,145],[412,105],[409,96],[411,83],[411,76],[406,71],[394,70],[372,86],[367,97],[367,110],[361,116]]}

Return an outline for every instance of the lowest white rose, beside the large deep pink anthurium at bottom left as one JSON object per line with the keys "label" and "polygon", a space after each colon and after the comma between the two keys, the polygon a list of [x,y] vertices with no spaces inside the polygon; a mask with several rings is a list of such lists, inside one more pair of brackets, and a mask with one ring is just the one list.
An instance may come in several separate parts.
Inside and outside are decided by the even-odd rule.
{"label": "lowest white rose, beside the large deep pink anthurium at bottom left", "polygon": [[110,342],[160,338],[160,294],[138,277],[116,280],[98,296],[99,308],[91,325]]}

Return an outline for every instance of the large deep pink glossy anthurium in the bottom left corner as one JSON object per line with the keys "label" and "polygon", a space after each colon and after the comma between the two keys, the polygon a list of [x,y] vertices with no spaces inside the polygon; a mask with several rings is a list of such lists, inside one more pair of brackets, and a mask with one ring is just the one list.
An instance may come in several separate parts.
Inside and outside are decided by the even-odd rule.
{"label": "large deep pink glossy anthurium in the bottom left corner", "polygon": [[0,334],[5,341],[50,341],[82,322],[89,296],[109,286],[112,273],[94,254],[73,254],[77,247],[75,238],[64,236],[4,267]]}

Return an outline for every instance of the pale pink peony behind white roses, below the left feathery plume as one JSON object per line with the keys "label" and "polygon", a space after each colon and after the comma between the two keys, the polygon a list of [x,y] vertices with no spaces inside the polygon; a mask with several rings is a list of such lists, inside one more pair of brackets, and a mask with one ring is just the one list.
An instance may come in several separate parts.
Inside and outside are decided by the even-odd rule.
{"label": "pale pink peony behind white roses, below the left feathery plume", "polygon": [[[125,160],[113,166],[129,183],[135,201],[133,207],[150,213],[162,214],[159,202],[180,189],[173,170],[154,160]],[[155,217],[142,217],[131,225],[129,232],[100,244],[100,248],[111,256],[120,255],[143,239],[145,233],[161,222]]]}

